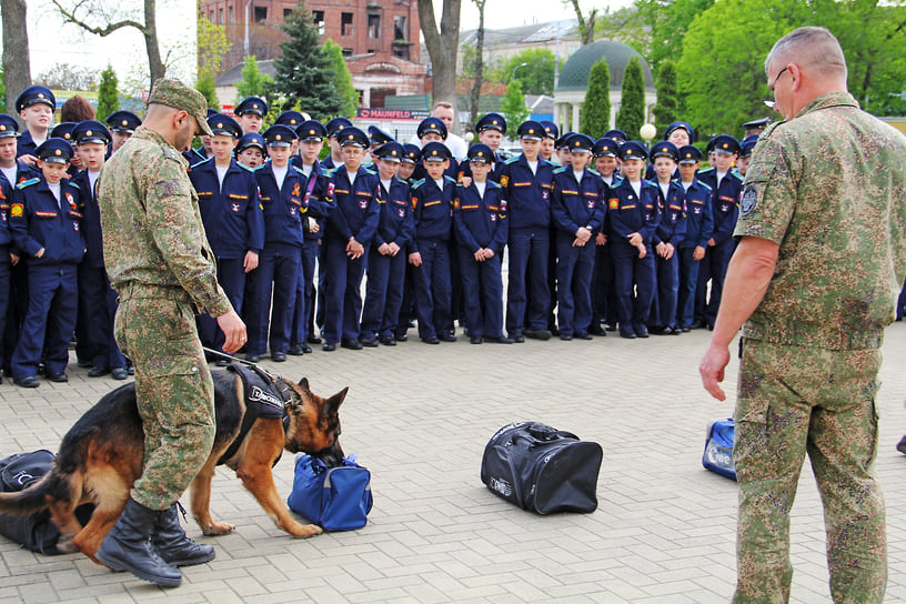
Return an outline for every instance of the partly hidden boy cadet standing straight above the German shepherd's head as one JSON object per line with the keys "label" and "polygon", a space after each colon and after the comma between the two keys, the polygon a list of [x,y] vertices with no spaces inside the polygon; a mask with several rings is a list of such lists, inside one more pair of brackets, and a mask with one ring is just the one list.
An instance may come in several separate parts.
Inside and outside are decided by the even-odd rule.
{"label": "partly hidden boy cadet standing straight above the German shepherd's head", "polygon": [[[303,121],[295,129],[299,135],[300,153],[293,157],[292,165],[302,170],[305,178],[305,195],[310,199],[331,203],[328,200],[328,178],[318,161],[318,154],[324,145],[324,137],[328,131],[324,125],[315,120]],[[321,248],[321,236],[323,234],[322,220],[314,215],[305,214],[302,218],[302,260],[299,271],[299,282],[295,286],[295,306],[293,309],[292,329],[290,330],[289,353],[300,355],[311,352],[311,346],[306,344],[313,335],[312,324],[314,322],[314,263],[318,260],[318,251]],[[320,340],[318,340],[320,342]],[[314,342],[318,343],[318,342]]]}

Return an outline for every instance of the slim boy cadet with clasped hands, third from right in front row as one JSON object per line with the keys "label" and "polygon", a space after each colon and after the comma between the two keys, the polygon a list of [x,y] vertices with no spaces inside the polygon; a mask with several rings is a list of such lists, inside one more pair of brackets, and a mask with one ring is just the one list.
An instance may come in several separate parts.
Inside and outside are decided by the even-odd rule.
{"label": "slim boy cadet with clasped hands, third from right in front row", "polygon": [[677,335],[676,303],[680,289],[680,251],[686,238],[686,210],[683,188],[673,180],[680,152],[670,141],[661,141],[652,150],[657,177],[657,211],[661,221],[654,232],[654,268],[657,293],[654,296],[650,324],[655,335]]}

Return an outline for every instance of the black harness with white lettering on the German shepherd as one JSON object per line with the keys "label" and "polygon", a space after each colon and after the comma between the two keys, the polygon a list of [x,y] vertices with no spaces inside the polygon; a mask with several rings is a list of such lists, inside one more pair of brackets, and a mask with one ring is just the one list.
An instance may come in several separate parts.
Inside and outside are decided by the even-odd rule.
{"label": "black harness with white lettering on the German shepherd", "polygon": [[[230,444],[226,452],[218,460],[218,464],[225,463],[226,460],[235,455],[242,445],[242,440],[252,429],[252,424],[259,417],[275,419],[283,421],[283,432],[290,425],[290,415],[286,413],[286,405],[291,403],[292,395],[290,387],[280,375],[268,373],[258,365],[243,366],[232,364],[226,368],[242,380],[242,391],[245,396],[245,413],[242,415],[242,425],[239,434]],[[280,456],[274,460],[274,465],[280,461]]]}

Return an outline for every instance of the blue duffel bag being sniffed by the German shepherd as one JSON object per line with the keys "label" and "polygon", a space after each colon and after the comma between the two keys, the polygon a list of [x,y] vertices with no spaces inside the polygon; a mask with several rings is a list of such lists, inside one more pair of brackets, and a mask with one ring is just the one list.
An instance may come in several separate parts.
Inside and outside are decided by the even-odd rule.
{"label": "blue duffel bag being sniffed by the German shepherd", "polygon": [[286,504],[325,531],[352,531],[368,522],[374,500],[371,472],[355,463],[355,455],[343,457],[343,465],[328,467],[311,455],[295,460],[295,477]]}

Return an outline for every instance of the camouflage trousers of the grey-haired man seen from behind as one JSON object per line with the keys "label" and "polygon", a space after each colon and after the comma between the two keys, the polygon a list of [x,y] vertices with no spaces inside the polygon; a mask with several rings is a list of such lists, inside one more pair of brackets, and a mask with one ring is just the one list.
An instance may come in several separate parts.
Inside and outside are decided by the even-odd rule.
{"label": "camouflage trousers of the grey-haired man seen from behind", "polygon": [[824,505],[833,601],[883,602],[885,505],[874,475],[879,368],[879,350],[743,340],[734,413],[739,516],[733,602],[789,600],[789,510],[806,454]]}

